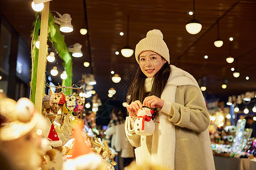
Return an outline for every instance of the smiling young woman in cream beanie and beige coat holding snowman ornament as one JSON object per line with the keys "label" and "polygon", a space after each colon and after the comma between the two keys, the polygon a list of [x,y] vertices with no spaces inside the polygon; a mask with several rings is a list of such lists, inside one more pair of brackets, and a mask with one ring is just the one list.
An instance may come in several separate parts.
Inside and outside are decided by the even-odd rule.
{"label": "smiling young woman in cream beanie and beige coat holding snowman ornament", "polygon": [[[148,31],[146,38],[138,42],[135,58],[140,68],[127,93],[125,132],[136,147],[137,164],[215,169],[204,97],[191,74],[170,65],[160,30]],[[138,135],[134,130],[136,112],[143,106],[156,110],[152,135]]]}

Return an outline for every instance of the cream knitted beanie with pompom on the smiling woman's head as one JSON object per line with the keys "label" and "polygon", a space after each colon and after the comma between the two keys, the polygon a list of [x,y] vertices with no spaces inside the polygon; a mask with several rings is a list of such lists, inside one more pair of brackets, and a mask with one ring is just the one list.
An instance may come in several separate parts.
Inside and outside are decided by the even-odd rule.
{"label": "cream knitted beanie with pompom on the smiling woman's head", "polygon": [[163,40],[163,33],[159,29],[152,29],[147,32],[146,38],[139,41],[135,48],[135,58],[139,63],[139,54],[143,51],[152,51],[162,56],[170,63],[169,49]]}

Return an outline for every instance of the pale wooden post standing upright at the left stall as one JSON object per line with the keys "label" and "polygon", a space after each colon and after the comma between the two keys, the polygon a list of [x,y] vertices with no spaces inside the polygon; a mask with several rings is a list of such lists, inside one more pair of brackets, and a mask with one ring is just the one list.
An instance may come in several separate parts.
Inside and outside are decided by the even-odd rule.
{"label": "pale wooden post standing upright at the left stall", "polygon": [[44,94],[44,80],[46,78],[46,50],[47,50],[47,32],[49,19],[49,1],[44,2],[40,27],[40,44],[38,56],[38,72],[36,75],[35,91],[35,109],[42,112],[42,99]]}

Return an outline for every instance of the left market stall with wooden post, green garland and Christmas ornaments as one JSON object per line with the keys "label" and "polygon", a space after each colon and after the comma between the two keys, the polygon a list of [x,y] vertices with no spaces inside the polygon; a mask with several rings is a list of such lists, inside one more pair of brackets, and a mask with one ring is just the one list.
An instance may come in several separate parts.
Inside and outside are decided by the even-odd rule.
{"label": "left market stall with wooden post, green garland and Christmas ornaments", "polygon": [[[36,13],[32,31],[31,99],[22,98],[16,103],[0,96],[0,153],[6,156],[5,169],[114,169],[115,150],[107,141],[96,135],[89,137],[84,131],[84,94],[89,88],[72,85],[70,50],[49,12],[49,3],[44,1],[43,11]],[[47,41],[55,46],[67,73],[58,86],[45,81]],[[95,109],[99,103],[97,94],[94,96]]]}

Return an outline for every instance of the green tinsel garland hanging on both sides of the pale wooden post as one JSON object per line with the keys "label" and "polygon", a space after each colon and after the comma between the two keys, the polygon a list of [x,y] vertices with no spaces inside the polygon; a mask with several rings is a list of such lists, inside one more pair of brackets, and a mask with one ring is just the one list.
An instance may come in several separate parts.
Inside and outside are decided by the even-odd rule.
{"label": "green tinsel garland hanging on both sides of the pale wooden post", "polygon": [[[36,14],[36,18],[37,17],[38,17],[38,13]],[[32,74],[32,81],[31,81],[30,100],[33,103],[35,103],[36,75],[38,71],[38,55],[39,55],[39,49],[35,47],[35,42],[38,40],[38,32],[40,29],[41,20],[38,19],[38,21],[34,22],[33,25],[35,27],[35,33],[34,33],[34,39],[32,40],[33,68],[31,69],[31,73],[33,74]],[[33,32],[32,32],[32,35],[33,35]],[[48,36],[49,36],[49,39],[51,39],[51,41],[55,45],[55,49],[59,53],[60,58],[63,59],[64,67],[66,67],[68,78],[63,80],[62,86],[71,87],[72,86],[72,58],[68,52],[68,48],[67,48],[67,45],[65,44],[64,37],[61,35],[59,31],[59,26],[55,24],[54,18],[51,12],[49,12]],[[46,50],[48,54],[48,49]],[[44,73],[45,72],[46,72],[46,69],[44,69]],[[45,84],[45,81],[43,83]],[[67,91],[65,91],[65,94],[71,94],[71,93],[72,93],[71,89],[68,89]],[[42,97],[43,97],[43,94],[42,94]]]}

